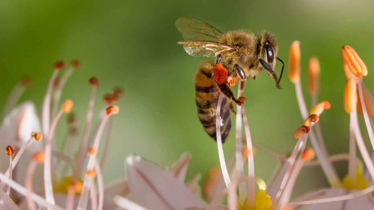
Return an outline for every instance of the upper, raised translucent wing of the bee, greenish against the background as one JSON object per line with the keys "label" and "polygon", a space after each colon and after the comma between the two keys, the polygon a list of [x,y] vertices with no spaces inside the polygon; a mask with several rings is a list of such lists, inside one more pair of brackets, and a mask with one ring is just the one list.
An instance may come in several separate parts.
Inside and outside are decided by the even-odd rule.
{"label": "upper, raised translucent wing of the bee, greenish against the background", "polygon": [[178,18],[175,26],[182,33],[184,40],[218,41],[218,37],[223,34],[207,22],[191,17]]}

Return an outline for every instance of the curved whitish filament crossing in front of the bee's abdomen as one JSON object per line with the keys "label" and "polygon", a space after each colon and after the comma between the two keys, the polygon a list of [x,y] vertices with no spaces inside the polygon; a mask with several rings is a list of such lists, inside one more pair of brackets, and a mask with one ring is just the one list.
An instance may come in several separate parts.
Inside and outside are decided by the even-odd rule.
{"label": "curved whitish filament crossing in front of the bee's abdomen", "polygon": [[[218,157],[220,158],[220,165],[221,165],[221,170],[222,170],[222,176],[225,181],[226,187],[230,186],[230,176],[229,172],[227,171],[226,167],[226,161],[225,157],[223,154],[223,148],[222,148],[222,140],[221,140],[221,120],[220,120],[220,113],[221,113],[221,103],[223,100],[224,94],[221,93],[220,97],[218,98],[218,104],[217,104],[217,114],[216,114],[216,119],[215,119],[215,127],[216,127],[216,133],[217,133],[217,147],[218,147]],[[241,151],[240,151],[241,155]]]}

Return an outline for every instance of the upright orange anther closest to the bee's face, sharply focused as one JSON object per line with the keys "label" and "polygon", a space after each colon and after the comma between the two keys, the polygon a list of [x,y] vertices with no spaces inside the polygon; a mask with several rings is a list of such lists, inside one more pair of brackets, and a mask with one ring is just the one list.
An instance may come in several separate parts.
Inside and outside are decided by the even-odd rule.
{"label": "upright orange anther closest to the bee's face, sharply focused", "polygon": [[300,80],[300,41],[293,41],[289,48],[288,76],[292,83]]}

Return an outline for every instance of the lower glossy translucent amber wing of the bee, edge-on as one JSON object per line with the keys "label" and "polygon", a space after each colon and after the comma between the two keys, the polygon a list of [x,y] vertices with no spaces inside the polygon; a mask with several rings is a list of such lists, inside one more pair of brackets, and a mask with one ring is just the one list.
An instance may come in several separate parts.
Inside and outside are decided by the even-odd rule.
{"label": "lower glossy translucent amber wing of the bee, edge-on", "polygon": [[234,46],[219,43],[217,41],[179,41],[178,44],[183,44],[184,50],[186,50],[189,55],[195,57],[215,57],[226,50],[236,49]]}

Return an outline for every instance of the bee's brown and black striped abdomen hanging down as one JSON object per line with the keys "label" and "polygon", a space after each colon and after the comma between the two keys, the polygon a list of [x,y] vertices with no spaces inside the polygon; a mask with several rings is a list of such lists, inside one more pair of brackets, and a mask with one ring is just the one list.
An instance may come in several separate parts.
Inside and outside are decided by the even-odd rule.
{"label": "bee's brown and black striped abdomen hanging down", "polygon": [[[217,102],[221,90],[213,80],[214,63],[203,62],[197,68],[198,72],[195,77],[196,106],[197,115],[206,133],[217,140],[216,136],[216,112]],[[231,129],[229,99],[224,96],[221,104],[221,138],[225,142]]]}

